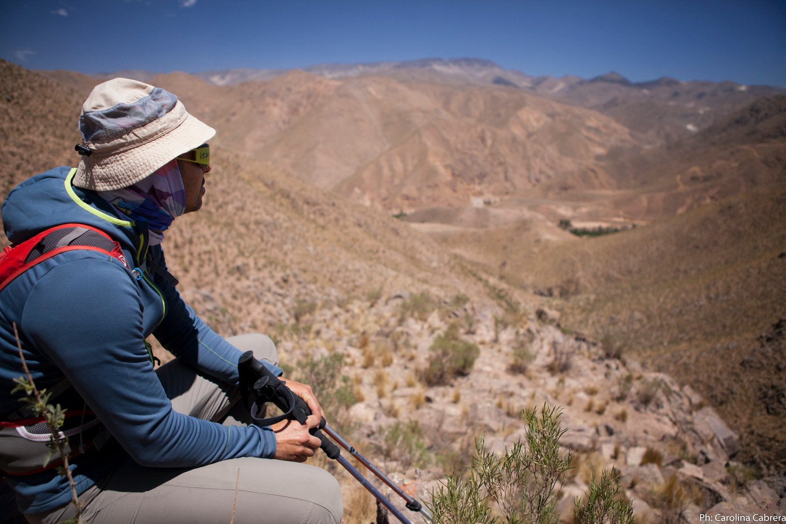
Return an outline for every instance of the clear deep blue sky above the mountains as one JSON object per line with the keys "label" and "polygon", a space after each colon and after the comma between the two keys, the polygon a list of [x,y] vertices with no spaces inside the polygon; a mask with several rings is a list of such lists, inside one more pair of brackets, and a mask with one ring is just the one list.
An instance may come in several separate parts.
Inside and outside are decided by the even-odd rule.
{"label": "clear deep blue sky above the mountains", "polygon": [[479,57],[527,75],[617,71],[786,86],[786,1],[0,0],[30,69],[304,68]]}

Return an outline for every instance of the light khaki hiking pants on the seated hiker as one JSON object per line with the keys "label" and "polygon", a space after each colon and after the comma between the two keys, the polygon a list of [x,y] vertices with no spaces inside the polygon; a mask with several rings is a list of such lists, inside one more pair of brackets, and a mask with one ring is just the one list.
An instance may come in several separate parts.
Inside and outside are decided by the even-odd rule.
{"label": "light khaki hiking pants on the seated hiker", "polygon": [[[276,348],[264,335],[228,340],[240,350],[253,350],[260,360],[277,364]],[[248,419],[242,406],[233,409],[237,388],[212,382],[177,360],[156,372],[176,411],[207,420],[226,416],[225,425]],[[340,486],[327,471],[253,457],[191,469],[142,467],[127,459],[79,499],[85,504],[84,522],[96,524],[337,524],[343,512]],[[73,505],[68,504],[26,516],[36,524],[53,524],[73,514]]]}

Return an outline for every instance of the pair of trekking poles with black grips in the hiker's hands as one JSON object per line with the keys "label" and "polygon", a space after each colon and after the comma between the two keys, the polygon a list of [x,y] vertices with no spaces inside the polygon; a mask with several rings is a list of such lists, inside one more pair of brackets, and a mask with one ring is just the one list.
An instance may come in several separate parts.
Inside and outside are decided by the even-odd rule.
{"label": "pair of trekking poles with black grips in the hiker's hands", "polygon": [[[286,387],[286,384],[278,379],[277,376],[270,372],[270,369],[266,368],[262,362],[256,360],[254,358],[254,354],[252,351],[246,351],[244,354],[241,355],[240,359],[237,361],[237,370],[240,374],[240,382],[241,382],[241,390],[244,390],[245,387],[248,387],[249,384],[252,384],[251,389],[253,390],[255,402],[251,407],[251,416],[252,420],[255,424],[259,426],[270,426],[270,424],[277,423],[281,420],[285,420],[288,418],[294,418],[299,423],[304,424],[306,423],[307,416],[311,414],[311,410],[309,409],[308,405],[302,398],[299,398],[297,395],[292,394],[292,391]],[[263,402],[273,401],[275,405],[277,405],[278,409],[281,409],[283,412],[282,415],[270,417],[267,419],[260,419],[256,417],[256,414],[259,412],[259,405],[262,405]],[[325,429],[327,428],[327,429]],[[341,456],[341,450],[338,447],[329,441],[324,434],[322,434],[320,429],[325,429],[325,431],[329,431],[331,436],[336,434],[332,431],[327,424],[325,423],[325,419],[322,418],[319,422],[319,426],[312,428],[309,432],[313,434],[315,437],[319,438],[321,445],[320,448],[325,454],[333,459],[336,460],[339,464],[341,464],[344,469],[349,471],[350,475],[352,475],[355,480],[361,483],[365,489],[368,489],[369,492],[379,500],[380,503],[387,508],[387,511],[390,511],[396,519],[399,519],[402,524],[412,524],[404,515],[402,515],[401,511],[399,511],[393,504],[391,504],[390,500],[387,500],[386,497],[378,489],[376,489],[361,473],[358,471],[352,464],[350,464],[347,459]],[[338,435],[336,435],[338,436]],[[335,437],[334,437],[335,438]],[[343,438],[336,442],[343,442]],[[351,446],[350,446],[351,447]],[[354,449],[354,448],[352,448]],[[348,449],[347,449],[348,450]],[[350,452],[351,453],[351,452]],[[357,453],[357,452],[355,452]],[[358,453],[358,455],[360,455]],[[363,464],[370,464],[368,463],[365,458],[363,459],[365,462]],[[376,469],[376,468],[374,468]],[[372,470],[374,471],[374,470]],[[378,471],[378,470],[377,470]],[[381,472],[380,472],[381,474]],[[378,476],[380,474],[377,474]],[[383,475],[384,476],[384,475]],[[387,479],[387,477],[385,477]],[[388,486],[392,485],[392,482],[387,479]],[[392,486],[391,486],[392,487]],[[398,486],[396,486],[398,488]],[[397,493],[402,494],[403,491],[399,488]],[[404,493],[406,495],[406,493]],[[410,500],[411,499],[410,497]],[[415,501],[417,503],[417,501]],[[420,503],[417,503],[420,505]],[[410,508],[410,505],[407,504],[407,508]],[[417,511],[417,510],[413,510]],[[421,507],[421,511],[423,508]],[[428,516],[426,516],[428,515]],[[424,518],[427,522],[432,522],[431,515],[428,514],[428,511],[424,514]]]}

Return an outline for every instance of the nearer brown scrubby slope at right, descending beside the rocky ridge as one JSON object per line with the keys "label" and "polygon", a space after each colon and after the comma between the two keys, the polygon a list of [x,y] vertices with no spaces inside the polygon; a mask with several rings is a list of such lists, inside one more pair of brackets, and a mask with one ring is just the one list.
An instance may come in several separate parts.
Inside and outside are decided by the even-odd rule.
{"label": "nearer brown scrubby slope at right, descending beside the rocky ridge", "polygon": [[[759,349],[786,318],[784,187],[593,239],[544,240],[537,222],[437,237],[512,284],[561,296],[549,302],[564,325],[696,387],[755,444],[746,460],[784,467],[784,412],[767,392],[781,387],[786,354]],[[768,365],[750,363],[764,353]]]}

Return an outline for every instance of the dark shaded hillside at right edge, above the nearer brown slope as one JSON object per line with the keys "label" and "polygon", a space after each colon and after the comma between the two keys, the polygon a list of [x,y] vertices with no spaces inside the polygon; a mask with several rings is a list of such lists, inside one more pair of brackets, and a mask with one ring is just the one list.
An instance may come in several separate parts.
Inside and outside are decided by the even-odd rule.
{"label": "dark shaded hillside at right edge, above the nearer brown slope", "polygon": [[678,145],[629,150],[602,163],[620,189],[609,206],[638,219],[664,218],[786,176],[786,97],[763,98]]}

